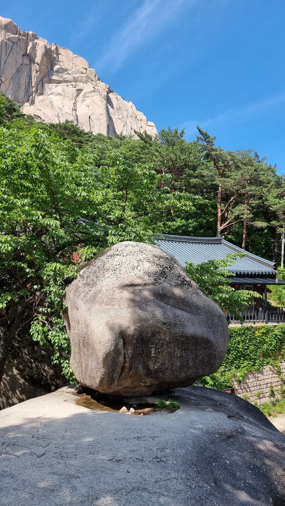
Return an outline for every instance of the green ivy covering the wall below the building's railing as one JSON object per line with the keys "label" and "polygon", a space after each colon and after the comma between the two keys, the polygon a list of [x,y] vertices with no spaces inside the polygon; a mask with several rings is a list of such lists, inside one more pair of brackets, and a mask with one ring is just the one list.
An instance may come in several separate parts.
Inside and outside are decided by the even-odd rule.
{"label": "green ivy covering the wall below the building's railing", "polygon": [[285,353],[285,325],[242,325],[229,327],[229,345],[220,369],[199,379],[210,388],[224,390],[232,387],[232,377],[242,381],[249,371],[259,371],[265,365],[278,369],[273,353]]}

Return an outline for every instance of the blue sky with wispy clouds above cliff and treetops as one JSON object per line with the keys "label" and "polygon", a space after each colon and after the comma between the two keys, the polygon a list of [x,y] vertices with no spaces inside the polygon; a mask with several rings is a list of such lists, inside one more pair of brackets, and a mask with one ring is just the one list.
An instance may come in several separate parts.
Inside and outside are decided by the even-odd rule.
{"label": "blue sky with wispy clouds above cliff and treetops", "polygon": [[157,130],[196,125],[285,173],[283,0],[13,0],[1,15],[86,58]]}

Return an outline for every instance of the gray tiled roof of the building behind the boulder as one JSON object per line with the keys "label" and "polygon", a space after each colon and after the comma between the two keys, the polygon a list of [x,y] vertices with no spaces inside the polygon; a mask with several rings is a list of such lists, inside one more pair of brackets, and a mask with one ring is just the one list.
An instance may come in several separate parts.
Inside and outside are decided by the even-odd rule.
{"label": "gray tiled roof of the building behind the boulder", "polygon": [[[185,266],[186,262],[201,264],[208,260],[223,259],[229,253],[245,252],[244,249],[225,241],[223,237],[185,237],[161,234],[155,242]],[[239,276],[276,276],[274,263],[246,251],[247,256],[238,258],[227,270]]]}

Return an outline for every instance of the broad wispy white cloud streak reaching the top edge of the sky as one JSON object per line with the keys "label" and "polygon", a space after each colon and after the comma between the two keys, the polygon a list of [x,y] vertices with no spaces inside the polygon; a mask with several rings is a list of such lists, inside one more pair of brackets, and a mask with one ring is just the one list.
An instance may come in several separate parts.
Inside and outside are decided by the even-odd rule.
{"label": "broad wispy white cloud streak reaching the top edge of the sky", "polygon": [[197,2],[198,0],[144,0],[125,25],[114,33],[96,67],[100,71],[106,67],[116,70],[130,54],[148,44],[173,22],[183,7],[189,9]]}

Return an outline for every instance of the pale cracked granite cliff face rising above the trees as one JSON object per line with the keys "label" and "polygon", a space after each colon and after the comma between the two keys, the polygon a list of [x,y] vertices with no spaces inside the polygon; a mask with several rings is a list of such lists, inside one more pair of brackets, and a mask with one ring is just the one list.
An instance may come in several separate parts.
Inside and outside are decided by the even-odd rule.
{"label": "pale cracked granite cliff face rising above the trees", "polygon": [[23,105],[25,114],[48,123],[68,119],[86,131],[111,136],[157,133],[154,123],[100,81],[84,58],[2,17],[0,92]]}

